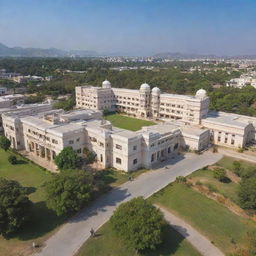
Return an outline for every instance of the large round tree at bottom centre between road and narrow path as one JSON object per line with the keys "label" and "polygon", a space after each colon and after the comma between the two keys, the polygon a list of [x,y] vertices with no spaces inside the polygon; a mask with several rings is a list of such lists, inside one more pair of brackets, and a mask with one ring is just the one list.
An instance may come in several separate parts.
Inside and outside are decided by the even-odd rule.
{"label": "large round tree at bottom centre between road and narrow path", "polygon": [[121,204],[110,223],[117,235],[136,250],[155,249],[162,242],[163,215],[142,197]]}

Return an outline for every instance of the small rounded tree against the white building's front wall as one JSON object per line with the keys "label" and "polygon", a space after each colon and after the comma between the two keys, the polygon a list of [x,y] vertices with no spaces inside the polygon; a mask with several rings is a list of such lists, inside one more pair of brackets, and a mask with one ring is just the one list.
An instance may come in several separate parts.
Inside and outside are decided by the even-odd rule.
{"label": "small rounded tree against the white building's front wall", "polygon": [[72,147],[64,148],[55,158],[55,164],[60,170],[72,170],[81,166],[81,157]]}

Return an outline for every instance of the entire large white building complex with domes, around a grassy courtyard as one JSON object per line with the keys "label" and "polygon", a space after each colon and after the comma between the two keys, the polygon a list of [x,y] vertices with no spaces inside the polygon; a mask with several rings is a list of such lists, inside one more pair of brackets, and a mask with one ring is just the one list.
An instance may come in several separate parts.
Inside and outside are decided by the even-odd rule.
{"label": "entire large white building complex with domes, around a grassy courtyard", "polygon": [[[53,163],[71,146],[80,156],[87,150],[100,167],[124,171],[152,168],[180,150],[203,150],[210,144],[239,148],[255,143],[256,118],[209,112],[209,98],[200,89],[195,96],[161,93],[142,84],[139,90],[77,87],[80,110],[23,109],[2,114],[5,136],[12,147],[33,159]],[[103,120],[102,110],[150,118],[156,125],[128,131]]]}

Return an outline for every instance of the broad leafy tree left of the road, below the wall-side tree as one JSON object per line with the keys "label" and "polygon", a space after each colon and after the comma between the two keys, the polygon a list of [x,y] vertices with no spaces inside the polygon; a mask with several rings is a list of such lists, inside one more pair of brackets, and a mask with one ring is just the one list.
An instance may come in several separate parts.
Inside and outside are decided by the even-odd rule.
{"label": "broad leafy tree left of the road, below the wall-side tree", "polygon": [[93,176],[85,171],[64,171],[45,183],[47,207],[57,215],[80,210],[91,198]]}

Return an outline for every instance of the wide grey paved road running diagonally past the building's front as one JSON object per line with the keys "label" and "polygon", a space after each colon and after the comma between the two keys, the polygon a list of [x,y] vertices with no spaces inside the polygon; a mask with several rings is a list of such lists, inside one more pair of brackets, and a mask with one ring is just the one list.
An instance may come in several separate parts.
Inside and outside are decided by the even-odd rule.
{"label": "wide grey paved road running diagonally past the building's front", "polygon": [[46,241],[46,246],[36,255],[74,255],[89,238],[90,229],[97,230],[107,222],[120,203],[137,196],[149,197],[174,181],[177,176],[186,176],[199,168],[215,163],[221,157],[221,154],[210,152],[202,155],[190,153],[179,155],[163,163],[168,166],[168,169],[159,167],[111,190],[63,225]]}

